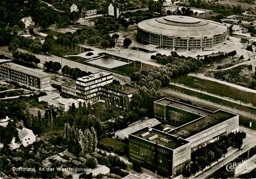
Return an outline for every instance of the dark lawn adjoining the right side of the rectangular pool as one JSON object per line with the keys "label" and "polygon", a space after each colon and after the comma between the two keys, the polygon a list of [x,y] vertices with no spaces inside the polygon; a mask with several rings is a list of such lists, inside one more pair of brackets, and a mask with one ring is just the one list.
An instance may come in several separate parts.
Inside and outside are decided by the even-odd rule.
{"label": "dark lawn adjoining the right side of the rectangular pool", "polygon": [[[153,65],[148,65],[148,64],[142,63],[142,70],[153,69],[153,68],[154,68]],[[113,70],[114,72],[119,73],[119,74],[130,76],[134,72],[141,70],[141,63],[136,62],[135,67],[134,67],[134,63],[130,63],[130,64],[127,64],[127,65],[112,68],[111,70]]]}

